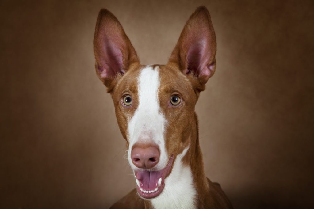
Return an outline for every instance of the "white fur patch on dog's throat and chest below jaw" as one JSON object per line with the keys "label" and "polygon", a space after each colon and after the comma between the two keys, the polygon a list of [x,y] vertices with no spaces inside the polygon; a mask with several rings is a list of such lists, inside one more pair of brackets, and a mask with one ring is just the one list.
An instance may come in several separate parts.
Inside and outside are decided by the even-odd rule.
{"label": "white fur patch on dog's throat and chest below jaw", "polygon": [[174,162],[171,174],[165,179],[165,188],[151,203],[155,209],[192,209],[195,206],[196,190],[193,185],[191,168],[183,166],[182,158],[187,148]]}

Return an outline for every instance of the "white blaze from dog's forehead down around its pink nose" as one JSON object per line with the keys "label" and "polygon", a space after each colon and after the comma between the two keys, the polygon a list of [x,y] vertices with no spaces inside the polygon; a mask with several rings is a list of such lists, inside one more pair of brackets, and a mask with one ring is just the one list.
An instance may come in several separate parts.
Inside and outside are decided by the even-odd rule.
{"label": "white blaze from dog's forehead down around its pink nose", "polygon": [[159,67],[145,67],[138,77],[138,108],[128,123],[130,142],[128,159],[132,169],[131,150],[135,143],[155,143],[159,146],[160,159],[156,170],[165,168],[168,157],[165,150],[165,117],[160,111],[158,89],[160,85]]}

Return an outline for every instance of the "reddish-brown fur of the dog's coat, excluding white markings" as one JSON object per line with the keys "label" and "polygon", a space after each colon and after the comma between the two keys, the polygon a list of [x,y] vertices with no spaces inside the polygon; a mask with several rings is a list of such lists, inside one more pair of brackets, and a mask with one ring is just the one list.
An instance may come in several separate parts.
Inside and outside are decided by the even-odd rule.
{"label": "reddish-brown fur of the dog's coat, excluding white markings", "polygon": [[[123,75],[120,72],[113,72],[110,66],[108,67],[104,62],[105,59],[102,59],[102,56],[107,56],[102,49],[103,36],[106,36],[105,39],[107,36],[114,37],[113,42],[119,46],[123,58]],[[198,59],[189,60],[188,50],[200,43],[205,43],[204,47],[202,45],[202,53],[204,52],[204,54],[199,59],[203,64],[196,66],[197,61],[195,60]],[[122,136],[127,140],[129,138],[127,124],[138,106],[137,78],[144,66],[139,64],[136,52],[121,24],[108,10],[101,10],[98,16],[94,52],[97,75],[112,95],[117,122]],[[174,163],[176,163],[177,154],[189,147],[183,162],[192,170],[194,185],[197,190],[197,208],[232,208],[220,185],[212,183],[205,176],[198,139],[198,120],[194,111],[200,92],[205,89],[205,83],[215,72],[215,53],[216,38],[208,10],[205,7],[199,7],[182,30],[167,65],[151,66],[154,70],[159,71],[160,76],[158,98],[161,111],[167,120],[165,128],[166,150],[169,155],[174,154]],[[197,53],[196,55],[192,53],[192,56],[197,55]],[[113,76],[108,74],[107,77],[102,77],[100,68],[101,70],[109,70]],[[208,71],[209,69],[210,71]],[[207,73],[203,73],[204,71]],[[122,105],[122,99],[125,95],[132,96],[132,106],[125,107]],[[170,105],[169,101],[172,95],[178,95],[181,98],[179,105]],[[135,189],[132,190],[111,208],[152,208],[149,200],[140,199],[136,193]]]}

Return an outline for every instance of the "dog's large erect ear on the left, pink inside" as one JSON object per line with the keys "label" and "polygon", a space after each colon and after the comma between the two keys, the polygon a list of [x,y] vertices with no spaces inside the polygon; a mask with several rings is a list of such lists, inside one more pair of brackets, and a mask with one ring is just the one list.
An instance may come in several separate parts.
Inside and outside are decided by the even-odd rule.
{"label": "dog's large erect ear on the left, pink inside", "polygon": [[123,75],[131,64],[139,62],[131,41],[120,22],[107,9],[101,9],[94,36],[96,73],[109,88],[118,75]]}

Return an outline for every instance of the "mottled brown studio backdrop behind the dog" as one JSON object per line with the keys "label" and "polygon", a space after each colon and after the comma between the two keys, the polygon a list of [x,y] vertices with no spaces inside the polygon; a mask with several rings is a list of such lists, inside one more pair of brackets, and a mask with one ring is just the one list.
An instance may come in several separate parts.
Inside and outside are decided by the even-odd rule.
{"label": "mottled brown studio backdrop behind the dog", "polygon": [[108,208],[135,186],[95,75],[100,8],[143,64],[207,6],[217,69],[196,106],[207,176],[235,208],[313,206],[313,1],[1,1],[0,208]]}

